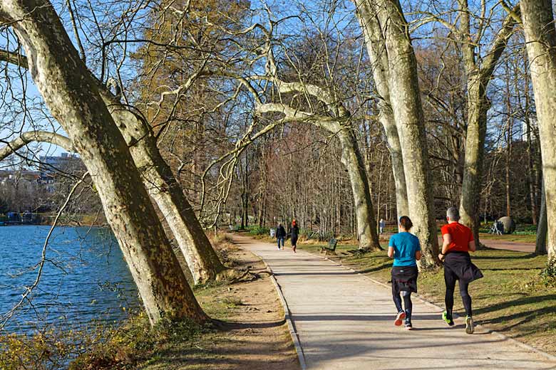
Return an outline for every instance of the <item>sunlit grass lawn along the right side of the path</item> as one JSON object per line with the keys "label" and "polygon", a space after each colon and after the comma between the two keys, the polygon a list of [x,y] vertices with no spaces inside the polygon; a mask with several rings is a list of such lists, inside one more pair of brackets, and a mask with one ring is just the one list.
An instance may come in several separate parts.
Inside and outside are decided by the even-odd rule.
{"label": "sunlit grass lawn along the right side of the path", "polygon": [[[298,248],[317,252],[320,245],[300,244]],[[386,251],[341,255],[356,245],[339,245],[335,259],[381,282],[390,280],[392,260]],[[473,262],[485,277],[470,285],[475,320],[522,342],[556,354],[556,279],[541,275],[546,256],[510,250],[479,250]],[[421,273],[419,295],[443,306],[443,270]],[[460,299],[455,297],[454,310],[464,314]]]}

